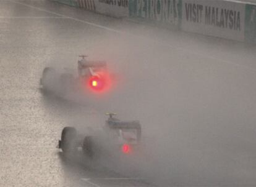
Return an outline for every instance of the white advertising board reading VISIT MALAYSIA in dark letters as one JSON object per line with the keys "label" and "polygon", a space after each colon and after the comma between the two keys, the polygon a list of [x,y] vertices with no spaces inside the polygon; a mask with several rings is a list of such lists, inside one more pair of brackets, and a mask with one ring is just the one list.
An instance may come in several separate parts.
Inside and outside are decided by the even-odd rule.
{"label": "white advertising board reading VISIT MALAYSIA in dark letters", "polygon": [[231,1],[182,0],[184,31],[244,41],[245,4]]}

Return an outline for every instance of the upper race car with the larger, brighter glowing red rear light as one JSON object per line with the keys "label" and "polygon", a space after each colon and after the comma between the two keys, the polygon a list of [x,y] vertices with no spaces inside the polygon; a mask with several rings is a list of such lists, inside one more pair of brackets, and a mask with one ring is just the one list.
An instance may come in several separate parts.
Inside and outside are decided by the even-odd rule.
{"label": "upper race car with the larger, brighter glowing red rear light", "polygon": [[114,75],[110,74],[106,62],[87,60],[87,55],[79,55],[77,72],[64,68],[46,67],[40,84],[43,90],[65,95],[69,91],[105,93],[113,84]]}

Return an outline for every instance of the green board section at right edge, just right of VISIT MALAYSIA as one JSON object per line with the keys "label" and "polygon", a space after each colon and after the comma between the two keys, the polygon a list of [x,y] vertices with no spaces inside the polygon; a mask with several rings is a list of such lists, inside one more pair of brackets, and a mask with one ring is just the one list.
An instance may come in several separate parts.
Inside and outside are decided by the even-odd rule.
{"label": "green board section at right edge, just right of VISIT MALAYSIA", "polygon": [[245,5],[245,41],[256,43],[256,5]]}

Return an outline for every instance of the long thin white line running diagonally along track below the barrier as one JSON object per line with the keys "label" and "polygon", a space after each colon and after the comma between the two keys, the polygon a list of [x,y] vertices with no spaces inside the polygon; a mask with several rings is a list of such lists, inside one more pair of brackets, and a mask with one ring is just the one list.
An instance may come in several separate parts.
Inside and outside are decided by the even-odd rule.
{"label": "long thin white line running diagonally along track below the barrier", "polygon": [[160,44],[160,45],[165,45],[165,46],[171,47],[172,49],[181,50],[181,51],[183,51],[183,52],[186,52],[187,54],[197,55],[198,57],[208,58],[208,59],[211,59],[211,60],[216,60],[216,61],[219,61],[219,62],[227,63],[227,64],[229,64],[229,65],[239,66],[239,67],[241,67],[241,68],[244,68],[244,69],[249,70],[249,71],[254,71],[254,73],[256,73],[256,69],[255,69],[255,68],[252,68],[252,67],[250,67],[250,66],[237,64],[237,63],[234,63],[234,62],[231,62],[231,61],[228,61],[228,60],[223,60],[223,59],[216,58],[216,57],[212,57],[212,56],[202,55],[202,54],[197,53],[197,52],[192,52],[192,51],[190,51],[190,50],[183,49],[182,47],[175,47],[175,46],[173,46],[173,45],[171,45],[171,44],[165,43],[164,41],[158,41],[158,40],[154,40],[154,39],[149,39],[149,38],[145,38],[145,37],[143,37],[143,36],[138,36],[138,35],[136,35],[136,34],[127,33],[127,32],[120,31],[120,30],[115,30],[115,29],[113,29],[113,28],[109,28],[108,26],[98,25],[98,24],[96,24],[96,23],[87,22],[87,21],[85,21],[85,20],[80,20],[80,19],[78,19],[78,18],[69,17],[69,16],[66,16],[66,15],[64,15],[64,14],[59,14],[59,13],[56,13],[56,12],[53,12],[53,11],[49,11],[49,10],[41,9],[41,8],[39,8],[39,7],[31,6],[31,5],[25,4],[25,3],[23,3],[23,2],[17,2],[17,1],[13,1],[13,0],[10,0],[10,1],[11,1],[11,2],[14,2],[14,3],[16,3],[16,4],[22,4],[23,6],[27,6],[27,7],[30,7],[30,8],[32,8],[32,9],[40,10],[40,11],[42,11],[42,12],[47,12],[47,13],[49,13],[49,14],[58,15],[58,16],[64,17],[64,18],[69,18],[70,20],[74,20],[74,21],[76,21],[76,22],[85,23],[85,24],[87,24],[87,25],[95,26],[95,27],[97,27],[97,28],[101,28],[101,29],[104,29],[104,30],[108,30],[108,31],[111,31],[111,32],[114,32],[114,33],[126,34],[126,35],[129,35],[129,36],[133,36],[134,38],[147,39],[148,41],[152,41],[152,42],[158,43],[158,44]]}

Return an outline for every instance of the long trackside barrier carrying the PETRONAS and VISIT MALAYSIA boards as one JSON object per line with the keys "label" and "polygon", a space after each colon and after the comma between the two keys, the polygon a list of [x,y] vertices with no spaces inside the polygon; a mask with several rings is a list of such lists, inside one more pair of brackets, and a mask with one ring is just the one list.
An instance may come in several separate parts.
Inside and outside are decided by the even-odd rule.
{"label": "long trackside barrier carrying the PETRONAS and VISIT MALAYSIA boards", "polygon": [[256,3],[228,0],[54,0],[85,10],[256,44]]}

